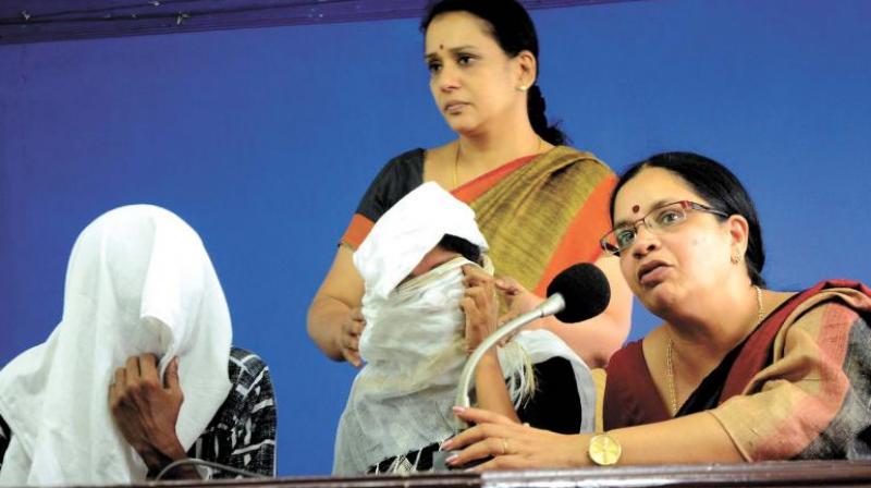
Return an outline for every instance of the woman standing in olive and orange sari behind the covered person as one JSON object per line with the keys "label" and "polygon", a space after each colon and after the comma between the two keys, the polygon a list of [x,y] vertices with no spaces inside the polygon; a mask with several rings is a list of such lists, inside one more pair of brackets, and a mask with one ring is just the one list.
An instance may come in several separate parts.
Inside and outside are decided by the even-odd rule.
{"label": "woman standing in olive and orange sari behind the covered person", "polygon": [[548,125],[529,14],[514,0],[443,0],[421,30],[430,90],[457,138],[404,152],[381,170],[315,295],[309,335],[329,357],[360,365],[364,284],[354,249],[394,203],[434,181],[475,210],[513,310],[537,305],[551,279],[575,263],[602,268],[612,289],[604,314],[581,326],[548,318],[537,327],[556,333],[589,366],[603,366],[628,334],[631,307],[617,260],[604,259],[597,243],[609,228],[616,179],[589,152],[563,146],[565,134]]}

